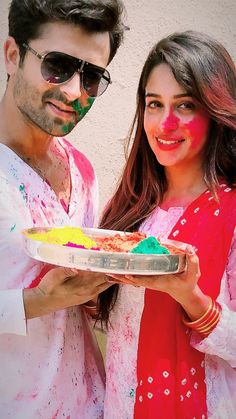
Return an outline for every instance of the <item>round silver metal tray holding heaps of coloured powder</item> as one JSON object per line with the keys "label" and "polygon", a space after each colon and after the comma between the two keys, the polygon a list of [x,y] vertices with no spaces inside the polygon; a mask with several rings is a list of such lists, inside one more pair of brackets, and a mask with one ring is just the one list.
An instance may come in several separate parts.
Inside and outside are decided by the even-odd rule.
{"label": "round silver metal tray holding heaps of coloured powder", "polygon": [[[133,253],[115,253],[98,250],[87,250],[58,244],[49,244],[27,237],[27,233],[42,233],[50,228],[31,228],[24,230],[23,242],[25,252],[34,259],[52,265],[114,274],[157,275],[183,272],[186,266],[186,243],[175,240],[161,241],[180,249],[178,254],[144,255]],[[96,240],[98,236],[129,234],[115,230],[82,228],[85,234]]]}

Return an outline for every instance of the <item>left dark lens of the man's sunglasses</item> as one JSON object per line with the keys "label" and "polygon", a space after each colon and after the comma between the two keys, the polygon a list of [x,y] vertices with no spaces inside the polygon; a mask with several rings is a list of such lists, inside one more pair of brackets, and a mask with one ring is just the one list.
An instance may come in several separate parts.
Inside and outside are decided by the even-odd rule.
{"label": "left dark lens of the man's sunglasses", "polygon": [[49,52],[42,61],[42,76],[49,83],[63,83],[69,80],[75,68],[68,57],[60,52]]}

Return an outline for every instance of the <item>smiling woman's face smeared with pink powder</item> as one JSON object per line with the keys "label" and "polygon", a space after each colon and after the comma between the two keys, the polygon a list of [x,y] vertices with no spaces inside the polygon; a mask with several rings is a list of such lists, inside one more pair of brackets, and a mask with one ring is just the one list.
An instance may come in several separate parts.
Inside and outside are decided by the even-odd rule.
{"label": "smiling woman's face smeared with pink powder", "polygon": [[153,68],[145,89],[144,129],[159,163],[202,163],[209,115],[176,81],[168,64]]}

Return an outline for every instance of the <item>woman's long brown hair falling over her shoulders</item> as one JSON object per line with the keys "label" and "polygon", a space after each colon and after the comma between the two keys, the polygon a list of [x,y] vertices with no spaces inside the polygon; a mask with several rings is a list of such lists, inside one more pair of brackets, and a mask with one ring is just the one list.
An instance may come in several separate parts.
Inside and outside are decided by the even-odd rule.
{"label": "woman's long brown hair falling over her shoulders", "polygon": [[[158,42],[144,64],[126,150],[131,143],[132,146],[117,190],[103,213],[101,228],[138,230],[162,201],[167,189],[164,167],[152,152],[143,127],[148,77],[152,69],[163,62],[210,115],[203,160],[208,188],[215,194],[222,178],[231,187],[236,184],[235,65],[225,48],[209,36],[194,31],[175,33]],[[106,326],[118,289],[118,285],[113,285],[99,296],[99,314]]]}

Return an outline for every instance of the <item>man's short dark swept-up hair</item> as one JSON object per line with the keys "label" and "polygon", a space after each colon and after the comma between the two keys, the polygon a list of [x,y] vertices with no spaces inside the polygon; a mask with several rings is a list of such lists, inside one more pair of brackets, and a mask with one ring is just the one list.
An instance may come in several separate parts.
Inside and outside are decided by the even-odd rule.
{"label": "man's short dark swept-up hair", "polygon": [[68,22],[80,25],[88,33],[109,32],[110,57],[114,57],[123,39],[122,0],[12,0],[9,9],[9,35],[20,48],[40,36],[42,25]]}

